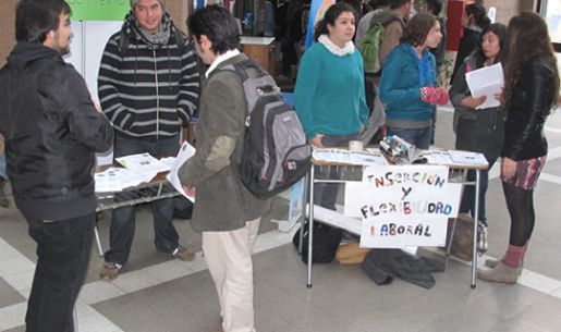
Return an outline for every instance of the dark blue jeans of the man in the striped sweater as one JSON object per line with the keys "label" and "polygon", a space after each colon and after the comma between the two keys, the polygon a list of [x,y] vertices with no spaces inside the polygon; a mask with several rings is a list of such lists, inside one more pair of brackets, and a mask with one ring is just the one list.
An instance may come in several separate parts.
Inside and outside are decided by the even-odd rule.
{"label": "dark blue jeans of the man in the striped sweater", "polygon": [[[175,156],[179,151],[179,136],[157,142],[129,139],[115,135],[113,155],[122,156],[148,152],[154,157]],[[119,196],[118,196],[119,198]],[[179,247],[179,234],[173,225],[173,199],[153,201],[154,244],[161,253],[171,254]],[[109,250],[105,254],[106,261],[124,265],[129,260],[133,245],[136,219],[136,207],[122,207],[113,210],[111,228],[109,229]]]}

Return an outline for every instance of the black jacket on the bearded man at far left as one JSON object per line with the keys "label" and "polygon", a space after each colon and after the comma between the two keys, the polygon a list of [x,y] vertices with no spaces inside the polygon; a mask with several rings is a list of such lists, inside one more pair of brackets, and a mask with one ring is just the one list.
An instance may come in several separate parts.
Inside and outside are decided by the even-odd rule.
{"label": "black jacket on the bearded man at far left", "polygon": [[95,211],[95,152],[113,131],[82,76],[51,48],[20,42],[0,70],[0,133],[8,176],[27,218],[64,220]]}

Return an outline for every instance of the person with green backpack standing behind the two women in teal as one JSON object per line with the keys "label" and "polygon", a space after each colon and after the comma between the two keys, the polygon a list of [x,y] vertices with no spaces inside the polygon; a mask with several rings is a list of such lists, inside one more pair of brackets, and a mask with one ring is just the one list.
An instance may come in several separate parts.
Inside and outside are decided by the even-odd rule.
{"label": "person with green backpack standing behind the two women in teal", "polygon": [[366,101],[371,110],[368,127],[361,136],[366,144],[385,121],[383,106],[377,98],[381,70],[386,57],[400,42],[405,21],[411,15],[413,2],[414,0],[378,1],[381,8],[364,15],[358,22],[355,44],[365,59]]}

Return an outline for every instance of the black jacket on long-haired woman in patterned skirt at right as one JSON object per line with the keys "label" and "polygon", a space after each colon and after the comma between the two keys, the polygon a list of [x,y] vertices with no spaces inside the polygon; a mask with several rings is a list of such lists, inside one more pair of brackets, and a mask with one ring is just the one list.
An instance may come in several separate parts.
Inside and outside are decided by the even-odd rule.
{"label": "black jacket on long-haired woman in patterned skirt at right", "polygon": [[544,123],[556,102],[554,71],[540,58],[524,65],[507,102],[502,157],[527,160],[547,155]]}

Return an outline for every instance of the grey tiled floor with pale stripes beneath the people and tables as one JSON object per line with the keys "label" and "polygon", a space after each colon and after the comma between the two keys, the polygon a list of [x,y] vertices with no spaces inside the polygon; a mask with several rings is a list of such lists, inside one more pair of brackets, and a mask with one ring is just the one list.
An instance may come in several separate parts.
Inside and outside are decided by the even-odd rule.
{"label": "grey tiled floor with pale stripes beneath the people and tables", "polygon": [[[437,145],[453,147],[451,113],[439,110]],[[561,115],[548,122],[548,163],[535,192],[537,223],[517,285],[479,281],[469,288],[469,267],[448,260],[425,290],[395,280],[375,285],[356,266],[315,266],[314,286],[290,235],[263,223],[255,248],[255,305],[259,332],[554,332],[561,331]],[[497,169],[488,193],[489,256],[500,257],[509,218]],[[286,201],[277,198],[268,219],[282,219]],[[100,221],[103,246],[109,216]],[[176,226],[182,242],[200,250],[188,221]],[[102,259],[95,250],[77,306],[78,329],[100,332],[214,332],[219,327],[216,291],[204,257],[170,260],[155,253],[151,216],[139,209],[131,261],[112,283],[98,280]],[[434,253],[427,253],[435,255]],[[437,253],[437,255],[440,255]],[[24,331],[25,299],[35,267],[35,244],[13,208],[0,210],[0,330]],[[56,331],[53,331],[56,332]]]}

